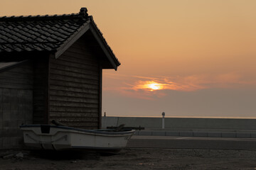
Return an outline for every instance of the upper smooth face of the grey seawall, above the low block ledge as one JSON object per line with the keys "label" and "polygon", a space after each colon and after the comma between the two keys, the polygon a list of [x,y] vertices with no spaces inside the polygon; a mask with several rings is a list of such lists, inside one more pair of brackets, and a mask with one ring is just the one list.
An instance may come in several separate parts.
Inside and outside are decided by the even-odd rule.
{"label": "upper smooth face of the grey seawall, above the low block ledge", "polygon": [[[166,130],[256,130],[256,119],[164,118]],[[127,127],[161,129],[162,118],[102,117],[102,128],[125,124]]]}

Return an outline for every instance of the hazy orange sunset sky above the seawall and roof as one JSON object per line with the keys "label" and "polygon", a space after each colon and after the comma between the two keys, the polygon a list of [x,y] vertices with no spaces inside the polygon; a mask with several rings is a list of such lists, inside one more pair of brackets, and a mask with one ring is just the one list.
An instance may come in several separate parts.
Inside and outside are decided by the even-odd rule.
{"label": "hazy orange sunset sky above the seawall and roof", "polygon": [[1,0],[0,16],[81,7],[121,62],[103,114],[256,118],[255,0]]}

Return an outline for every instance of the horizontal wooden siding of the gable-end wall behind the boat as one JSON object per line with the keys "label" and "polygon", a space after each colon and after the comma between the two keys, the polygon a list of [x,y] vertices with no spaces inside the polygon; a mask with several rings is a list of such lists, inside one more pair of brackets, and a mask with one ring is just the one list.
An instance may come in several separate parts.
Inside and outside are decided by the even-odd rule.
{"label": "horizontal wooden siding of the gable-end wall behind the boat", "polygon": [[50,57],[50,120],[75,128],[99,128],[101,70],[97,56],[82,40],[58,59]]}

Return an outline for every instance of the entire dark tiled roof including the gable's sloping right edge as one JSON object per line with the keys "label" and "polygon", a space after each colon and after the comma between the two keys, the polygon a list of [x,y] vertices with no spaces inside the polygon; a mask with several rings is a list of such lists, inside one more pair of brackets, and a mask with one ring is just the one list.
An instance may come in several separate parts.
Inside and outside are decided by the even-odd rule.
{"label": "entire dark tiled roof including the gable's sloping right edge", "polygon": [[112,68],[117,69],[120,62],[88,16],[87,8],[64,15],[0,17],[0,53],[46,51],[58,58],[87,30],[91,30]]}

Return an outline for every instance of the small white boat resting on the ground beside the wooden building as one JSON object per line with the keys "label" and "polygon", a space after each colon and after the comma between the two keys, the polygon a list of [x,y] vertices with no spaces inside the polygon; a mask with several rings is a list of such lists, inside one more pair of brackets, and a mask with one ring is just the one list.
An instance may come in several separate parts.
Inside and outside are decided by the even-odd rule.
{"label": "small white boat resting on the ground beside the wooden building", "polygon": [[42,149],[100,149],[119,151],[135,130],[84,130],[58,125],[21,125],[24,143]]}

